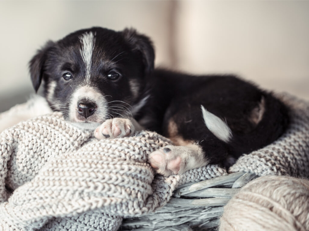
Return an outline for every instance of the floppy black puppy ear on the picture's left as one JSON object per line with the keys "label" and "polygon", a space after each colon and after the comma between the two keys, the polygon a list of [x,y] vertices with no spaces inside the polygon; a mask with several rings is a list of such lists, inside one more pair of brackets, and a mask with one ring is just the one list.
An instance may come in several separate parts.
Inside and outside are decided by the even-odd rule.
{"label": "floppy black puppy ear on the picture's left", "polygon": [[44,63],[46,61],[47,53],[49,49],[54,46],[54,44],[54,42],[48,41],[42,49],[37,51],[36,55],[33,56],[29,62],[30,77],[36,92],[39,89],[42,81]]}

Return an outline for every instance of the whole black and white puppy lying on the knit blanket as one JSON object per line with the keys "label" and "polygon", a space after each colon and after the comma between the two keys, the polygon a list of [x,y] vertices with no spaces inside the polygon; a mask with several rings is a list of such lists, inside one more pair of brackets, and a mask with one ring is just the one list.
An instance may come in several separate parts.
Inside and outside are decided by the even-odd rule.
{"label": "whole black and white puppy lying on the knit blanket", "polygon": [[[169,137],[149,156],[169,176],[235,159],[276,140],[286,107],[233,75],[185,75],[154,70],[150,39],[135,30],[94,27],[49,41],[30,62],[37,91],[53,110],[98,139],[147,129]],[[136,122],[137,121],[137,122]]]}

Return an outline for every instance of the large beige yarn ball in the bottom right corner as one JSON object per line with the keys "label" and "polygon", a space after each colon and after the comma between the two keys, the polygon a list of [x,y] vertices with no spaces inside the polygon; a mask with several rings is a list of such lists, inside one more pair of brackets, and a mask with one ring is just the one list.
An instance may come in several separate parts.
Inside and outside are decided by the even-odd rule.
{"label": "large beige yarn ball in the bottom right corner", "polygon": [[309,180],[262,176],[224,207],[219,231],[308,231]]}

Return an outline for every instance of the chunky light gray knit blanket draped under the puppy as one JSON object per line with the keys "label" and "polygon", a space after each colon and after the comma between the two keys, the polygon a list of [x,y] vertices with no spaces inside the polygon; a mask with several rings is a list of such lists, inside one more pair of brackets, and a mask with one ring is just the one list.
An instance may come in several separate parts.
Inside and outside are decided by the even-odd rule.
{"label": "chunky light gray knit blanket draped under the puppy", "polygon": [[[309,102],[284,94],[288,130],[239,158],[229,172],[309,176]],[[124,217],[163,207],[174,189],[221,176],[218,165],[156,175],[147,156],[171,141],[155,132],[96,140],[60,113],[24,121],[0,134],[0,230],[117,230]]]}

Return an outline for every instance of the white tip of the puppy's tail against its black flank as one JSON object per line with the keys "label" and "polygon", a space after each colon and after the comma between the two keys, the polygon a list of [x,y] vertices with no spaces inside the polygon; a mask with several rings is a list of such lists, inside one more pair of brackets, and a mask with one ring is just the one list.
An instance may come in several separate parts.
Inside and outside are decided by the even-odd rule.
{"label": "white tip of the puppy's tail against its black flank", "polygon": [[226,122],[221,120],[218,116],[210,113],[201,105],[203,119],[206,127],[212,132],[218,139],[229,142],[232,138],[232,131],[227,126]]}

